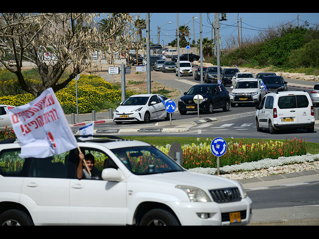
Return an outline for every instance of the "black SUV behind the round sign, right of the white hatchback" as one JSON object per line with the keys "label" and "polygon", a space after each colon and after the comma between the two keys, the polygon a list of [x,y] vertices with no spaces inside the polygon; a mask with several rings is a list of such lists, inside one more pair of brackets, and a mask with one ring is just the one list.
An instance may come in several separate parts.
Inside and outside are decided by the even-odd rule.
{"label": "black SUV behind the round sign, right of the white hatchback", "polygon": [[193,98],[201,95],[204,100],[199,104],[200,112],[212,114],[214,109],[222,108],[229,111],[229,92],[223,85],[219,84],[199,84],[191,87],[178,100],[178,111],[180,115],[185,115],[187,111],[197,111],[197,103]]}

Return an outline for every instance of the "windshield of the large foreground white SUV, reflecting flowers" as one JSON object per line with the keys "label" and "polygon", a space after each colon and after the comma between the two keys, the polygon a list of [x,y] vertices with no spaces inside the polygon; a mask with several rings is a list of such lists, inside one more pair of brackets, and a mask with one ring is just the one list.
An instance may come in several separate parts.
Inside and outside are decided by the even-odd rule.
{"label": "windshield of the large foreground white SUV, reflecting flowers", "polygon": [[153,146],[116,148],[112,152],[136,175],[183,171],[177,163]]}

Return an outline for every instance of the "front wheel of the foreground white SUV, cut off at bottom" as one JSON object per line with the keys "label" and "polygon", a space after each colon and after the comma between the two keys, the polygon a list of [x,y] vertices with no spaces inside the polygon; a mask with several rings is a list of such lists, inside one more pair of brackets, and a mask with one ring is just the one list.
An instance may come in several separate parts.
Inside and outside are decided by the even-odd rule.
{"label": "front wheel of the foreground white SUV, cut off at bottom", "polygon": [[170,212],[163,209],[153,209],[146,213],[140,226],[179,226],[177,219]]}

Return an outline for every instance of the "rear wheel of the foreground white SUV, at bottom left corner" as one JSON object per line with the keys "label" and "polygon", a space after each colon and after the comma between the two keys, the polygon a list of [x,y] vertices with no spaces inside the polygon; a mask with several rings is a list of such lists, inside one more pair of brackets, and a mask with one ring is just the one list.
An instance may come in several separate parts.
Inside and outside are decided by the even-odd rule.
{"label": "rear wheel of the foreground white SUV, at bottom left corner", "polygon": [[26,213],[11,209],[0,215],[0,226],[33,226],[33,222]]}

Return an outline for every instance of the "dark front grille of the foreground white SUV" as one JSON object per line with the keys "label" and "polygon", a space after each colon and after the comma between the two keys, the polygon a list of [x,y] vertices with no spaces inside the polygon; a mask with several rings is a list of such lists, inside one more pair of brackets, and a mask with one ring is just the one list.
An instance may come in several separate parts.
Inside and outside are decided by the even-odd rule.
{"label": "dark front grille of the foreground white SUV", "polygon": [[241,200],[238,188],[221,188],[209,190],[215,203],[231,203]]}

